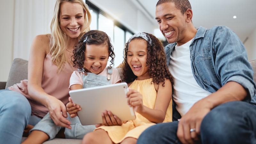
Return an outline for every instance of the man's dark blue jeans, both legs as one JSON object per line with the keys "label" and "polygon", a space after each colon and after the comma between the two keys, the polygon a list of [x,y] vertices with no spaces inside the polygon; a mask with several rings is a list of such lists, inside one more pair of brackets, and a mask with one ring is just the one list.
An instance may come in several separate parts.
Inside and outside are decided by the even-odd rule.
{"label": "man's dark blue jeans, both legs", "polygon": [[[156,124],[146,129],[137,144],[181,144],[178,121]],[[202,144],[256,144],[256,106],[233,101],[213,108],[200,127]]]}

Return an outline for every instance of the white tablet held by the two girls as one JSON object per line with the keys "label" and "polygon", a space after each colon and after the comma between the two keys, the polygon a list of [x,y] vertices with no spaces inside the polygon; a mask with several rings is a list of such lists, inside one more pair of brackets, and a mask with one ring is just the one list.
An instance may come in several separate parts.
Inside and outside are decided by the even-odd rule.
{"label": "white tablet held by the two girls", "polygon": [[134,110],[127,104],[126,83],[110,84],[69,91],[72,101],[81,106],[77,115],[82,125],[102,124],[101,113],[111,111],[121,121],[136,118]]}

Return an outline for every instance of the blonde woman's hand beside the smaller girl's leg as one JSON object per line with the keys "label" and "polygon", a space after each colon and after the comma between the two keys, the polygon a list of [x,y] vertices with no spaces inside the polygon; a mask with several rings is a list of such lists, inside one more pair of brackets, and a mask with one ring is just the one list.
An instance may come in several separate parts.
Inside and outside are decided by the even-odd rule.
{"label": "blonde woman's hand beside the smaller girl's leg", "polygon": [[71,123],[66,119],[68,117],[66,107],[60,100],[55,97],[49,97],[47,99],[47,108],[54,124],[71,129]]}

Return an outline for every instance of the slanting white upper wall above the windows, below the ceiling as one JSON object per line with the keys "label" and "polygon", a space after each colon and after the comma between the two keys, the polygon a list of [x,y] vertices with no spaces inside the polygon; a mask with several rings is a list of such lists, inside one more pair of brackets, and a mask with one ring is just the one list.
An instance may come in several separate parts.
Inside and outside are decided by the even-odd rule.
{"label": "slanting white upper wall above the windows, below the ceiling", "polygon": [[131,0],[88,1],[111,15],[134,33],[147,32],[154,34],[154,29],[157,28],[157,23],[149,20],[148,16],[146,16]]}

